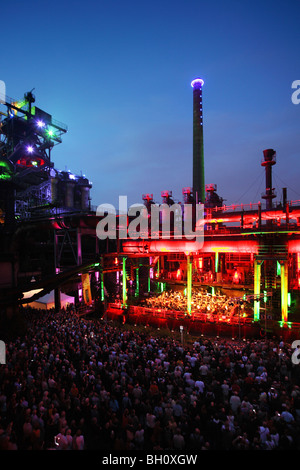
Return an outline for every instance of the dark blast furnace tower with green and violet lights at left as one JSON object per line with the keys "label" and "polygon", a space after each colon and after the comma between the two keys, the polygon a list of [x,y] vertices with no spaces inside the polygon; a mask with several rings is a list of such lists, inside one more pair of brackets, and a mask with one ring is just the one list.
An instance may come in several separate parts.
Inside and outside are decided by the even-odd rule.
{"label": "dark blast furnace tower with green and violet lights at left", "polygon": [[11,183],[14,204],[0,198],[0,208],[9,223],[15,218],[45,217],[88,210],[90,206],[90,181],[57,170],[51,160],[52,149],[62,142],[67,126],[34,103],[32,92],[21,101],[5,97],[2,102],[5,112],[1,112],[0,122],[0,183]]}

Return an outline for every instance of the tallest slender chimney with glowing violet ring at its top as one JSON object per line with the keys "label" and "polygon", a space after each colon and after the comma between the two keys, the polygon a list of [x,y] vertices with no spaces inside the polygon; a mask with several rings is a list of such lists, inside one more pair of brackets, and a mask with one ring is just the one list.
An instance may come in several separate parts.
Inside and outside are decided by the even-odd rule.
{"label": "tallest slender chimney with glowing violet ring at its top", "polygon": [[202,86],[204,81],[195,78],[193,87],[193,194],[197,202],[205,202]]}

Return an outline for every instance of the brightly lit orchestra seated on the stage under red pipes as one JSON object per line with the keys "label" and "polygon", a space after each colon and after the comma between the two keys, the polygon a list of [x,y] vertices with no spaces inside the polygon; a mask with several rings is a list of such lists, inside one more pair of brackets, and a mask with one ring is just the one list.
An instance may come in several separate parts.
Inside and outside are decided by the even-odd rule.
{"label": "brightly lit orchestra seated on the stage under red pipes", "polygon": [[[150,308],[185,312],[187,308],[187,296],[184,291],[163,291],[157,296],[147,298],[146,305]],[[237,313],[237,308],[237,304],[226,295],[219,293],[212,295],[203,289],[192,290],[191,309],[195,313],[230,317]],[[244,313],[244,305],[242,305],[242,309]]]}

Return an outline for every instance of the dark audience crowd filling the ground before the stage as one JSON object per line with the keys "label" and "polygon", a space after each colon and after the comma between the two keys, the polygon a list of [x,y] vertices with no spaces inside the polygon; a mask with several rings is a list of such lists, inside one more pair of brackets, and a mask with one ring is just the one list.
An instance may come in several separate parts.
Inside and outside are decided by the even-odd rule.
{"label": "dark audience crowd filling the ground before the stage", "polygon": [[182,343],[24,309],[0,365],[1,450],[291,450],[300,365],[281,339]]}

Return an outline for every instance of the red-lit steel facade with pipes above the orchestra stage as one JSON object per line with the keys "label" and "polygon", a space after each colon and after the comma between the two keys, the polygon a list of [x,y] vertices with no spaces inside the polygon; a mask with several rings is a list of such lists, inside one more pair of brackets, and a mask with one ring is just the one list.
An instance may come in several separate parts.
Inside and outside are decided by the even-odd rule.
{"label": "red-lit steel facade with pipes above the orchestra stage", "polygon": [[[253,301],[255,320],[260,319],[267,291],[270,310],[273,307],[273,313],[276,311],[277,302],[280,320],[289,320],[288,293],[294,293],[293,298],[299,292],[299,201],[268,210],[260,203],[207,209],[204,244],[200,250],[195,250],[195,246],[193,241],[184,239],[122,241],[129,259],[148,255],[160,260],[161,282],[174,285],[182,281],[188,292],[192,282],[194,286],[230,291],[232,296],[244,292],[239,295]],[[187,313],[190,314],[188,298]]]}

